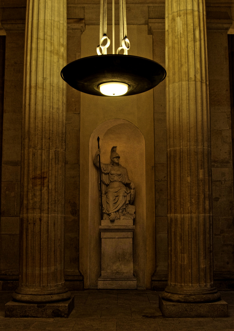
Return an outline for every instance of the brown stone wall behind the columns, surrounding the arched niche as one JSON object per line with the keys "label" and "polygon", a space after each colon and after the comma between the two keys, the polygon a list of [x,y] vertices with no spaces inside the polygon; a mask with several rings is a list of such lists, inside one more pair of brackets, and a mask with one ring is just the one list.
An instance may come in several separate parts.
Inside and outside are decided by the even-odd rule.
{"label": "brown stone wall behind the columns, surrounding the arched niche", "polygon": [[[0,219],[0,286],[3,290],[15,286],[12,282],[18,278],[19,263],[25,1],[22,0],[21,5],[20,8],[12,7],[1,11],[1,23],[6,31]],[[71,0],[68,1],[68,6],[67,60],[70,62],[78,59],[81,56],[81,52],[82,56],[95,55],[96,43],[98,44],[98,41],[96,43],[94,42],[94,44],[85,41],[86,44],[81,45],[81,34],[85,29],[84,18],[86,27],[88,26],[87,34],[92,34],[89,28],[98,28],[99,5],[93,3],[87,6],[85,5],[85,8],[77,7],[73,5]],[[131,45],[131,54],[146,57],[153,55],[153,59],[164,66],[165,34],[163,8],[164,6],[162,4],[156,4],[148,8],[146,2],[144,4],[143,2],[142,4],[138,3],[137,6],[134,3],[127,4],[128,24],[132,24],[129,27],[129,31],[130,34],[132,33],[132,40],[134,40]],[[86,13],[85,17],[84,13]],[[214,279],[216,282],[215,285],[218,288],[231,288],[234,280],[234,201],[231,140],[231,125],[233,123],[231,123],[230,108],[227,31],[232,24],[232,20],[230,7],[223,7],[223,10],[220,10],[220,7],[208,8],[207,14],[212,139]],[[147,35],[147,23],[149,23],[148,34],[152,34],[153,40],[151,36]],[[147,49],[148,53],[144,53],[140,42],[146,39],[151,42],[147,46],[149,47]],[[149,196],[151,198],[153,197],[155,206],[154,204],[150,204],[150,217],[146,220],[147,255],[146,270],[144,270],[146,275],[144,284],[146,285],[144,286],[150,287],[150,277],[152,274],[152,284],[156,281],[156,288],[162,289],[166,284],[167,180],[165,82],[156,87],[153,93],[147,93],[149,95],[147,102],[144,101],[145,99],[141,95],[139,95],[139,102],[132,101],[131,97],[126,97],[126,100],[130,100],[127,103],[127,107],[125,103],[124,105],[119,103],[118,106],[111,105],[112,108],[108,108],[109,106],[106,105],[105,107],[108,109],[106,113],[103,111],[102,102],[94,103],[87,96],[83,96],[83,112],[86,111],[88,114],[88,112],[98,109],[102,113],[94,114],[94,116],[83,113],[83,123],[80,124],[80,93],[73,90],[70,86],[67,87],[65,280],[66,285],[70,289],[82,288],[83,277],[81,273],[86,277],[86,287],[88,286],[88,247],[86,245],[89,238],[84,213],[81,224],[79,224],[80,201],[85,199],[85,196],[80,197],[80,180],[83,180],[82,185],[86,185],[84,180],[88,177],[86,176],[86,170],[84,172],[82,170],[80,174],[80,149],[82,149],[81,156],[88,160],[88,142],[91,133],[100,123],[110,118],[125,118],[134,122],[143,132],[147,141],[147,190]],[[121,114],[119,113],[119,109],[121,109]],[[113,114],[112,110],[114,110]],[[140,115],[143,111],[149,112],[148,118],[154,119],[153,124],[147,124],[145,122],[145,118]],[[127,115],[124,115],[124,112],[127,112]],[[101,118],[100,114],[102,116]],[[83,125],[81,137],[80,125]],[[86,128],[88,128],[88,131]],[[86,148],[87,151],[85,150]],[[83,169],[87,166],[87,160],[85,158],[82,160]],[[155,180],[153,180],[155,185],[151,185],[152,183],[149,178]],[[88,193],[87,191],[82,191],[82,194]],[[86,211],[87,209],[85,209]],[[81,267],[79,267],[80,254],[82,255]],[[154,272],[154,270],[156,271]],[[154,288],[154,286],[152,287]]]}

